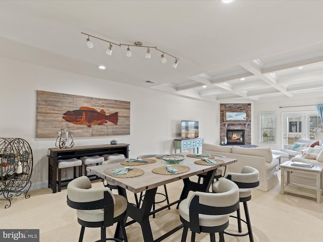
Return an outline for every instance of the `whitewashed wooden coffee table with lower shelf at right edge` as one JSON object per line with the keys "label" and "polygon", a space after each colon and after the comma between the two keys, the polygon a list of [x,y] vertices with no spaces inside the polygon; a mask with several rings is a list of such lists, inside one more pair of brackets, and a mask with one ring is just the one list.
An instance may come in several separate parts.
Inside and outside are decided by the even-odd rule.
{"label": "whitewashed wooden coffee table with lower shelf at right edge", "polygon": [[[321,202],[321,179],[323,166],[314,165],[313,167],[301,167],[292,165],[293,162],[285,161],[280,164],[281,167],[281,194],[293,193],[297,195],[302,195],[310,198],[316,198],[316,202]],[[287,173],[287,183],[285,183],[284,175],[285,170]],[[293,171],[298,171],[306,174],[316,174],[316,187],[309,187],[301,184],[290,183],[290,173]]]}

